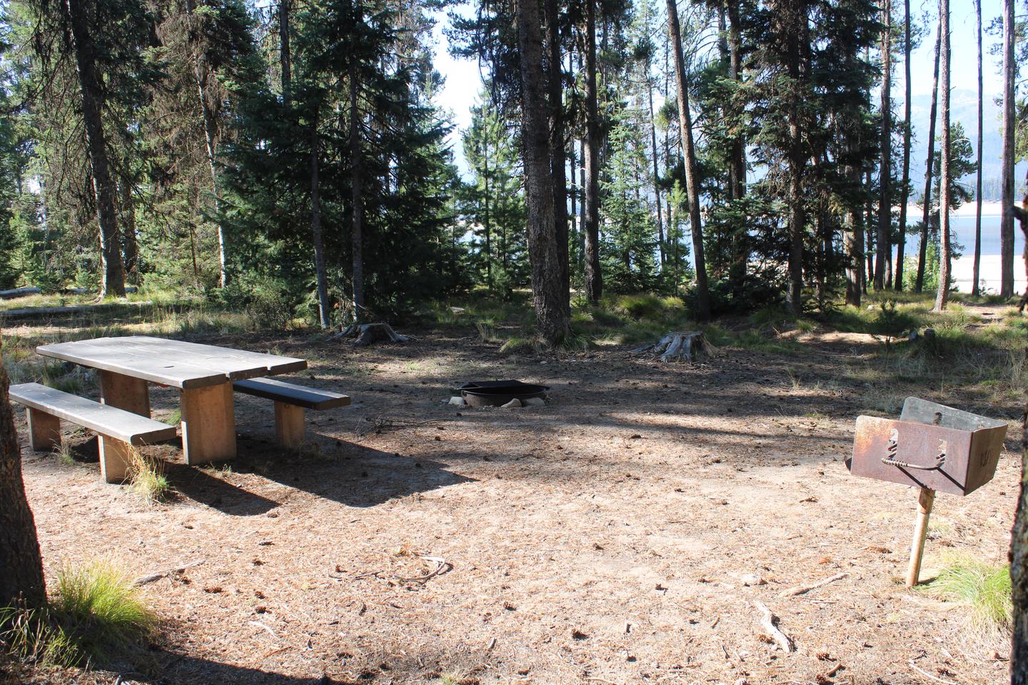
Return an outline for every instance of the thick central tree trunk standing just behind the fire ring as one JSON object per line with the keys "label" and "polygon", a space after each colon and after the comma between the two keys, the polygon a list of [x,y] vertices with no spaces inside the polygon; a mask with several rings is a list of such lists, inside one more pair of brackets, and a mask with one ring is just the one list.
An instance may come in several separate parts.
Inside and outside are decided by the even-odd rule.
{"label": "thick central tree trunk standing just behind the fire ring", "polygon": [[543,41],[536,2],[517,3],[521,66],[521,138],[528,206],[528,260],[539,334],[556,345],[571,334],[556,225],[553,221],[552,155],[543,74]]}

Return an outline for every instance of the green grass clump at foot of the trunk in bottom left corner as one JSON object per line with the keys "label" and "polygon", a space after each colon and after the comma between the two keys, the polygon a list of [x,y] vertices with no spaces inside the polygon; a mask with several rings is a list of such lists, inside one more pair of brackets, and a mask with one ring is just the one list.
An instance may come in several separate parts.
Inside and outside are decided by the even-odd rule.
{"label": "green grass clump at foot of the trunk in bottom left corner", "polygon": [[23,661],[106,663],[156,630],[156,615],[110,561],[66,566],[50,591],[44,608],[0,609],[0,646]]}

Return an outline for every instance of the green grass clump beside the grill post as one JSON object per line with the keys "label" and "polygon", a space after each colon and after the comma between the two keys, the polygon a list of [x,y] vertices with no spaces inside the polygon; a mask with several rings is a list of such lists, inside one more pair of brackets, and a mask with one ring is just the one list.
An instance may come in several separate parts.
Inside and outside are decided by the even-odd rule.
{"label": "green grass clump beside the grill post", "polygon": [[948,556],[944,564],[924,592],[962,605],[971,627],[982,637],[1009,633],[1014,611],[1009,565],[988,564],[961,555]]}

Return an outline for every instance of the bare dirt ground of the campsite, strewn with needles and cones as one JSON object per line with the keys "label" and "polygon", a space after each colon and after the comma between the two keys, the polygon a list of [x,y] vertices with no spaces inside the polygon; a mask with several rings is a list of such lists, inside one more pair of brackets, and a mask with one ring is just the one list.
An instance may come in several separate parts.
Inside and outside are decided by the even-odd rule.
{"label": "bare dirt ground of the campsite, strewn with needles and cones", "polygon": [[[624,349],[510,357],[456,333],[370,349],[319,340],[203,339],[308,358],[296,380],[354,397],[308,413],[307,454],[277,448],[270,403],[245,395],[229,468],[187,467],[177,446],[149,448],[178,492],[164,504],[102,483],[95,462],[67,465],[25,446],[48,573],[102,555],[140,574],[204,562],[145,586],[164,627],[123,665],[149,674],[141,682],[1008,678],[1001,642],[968,637],[954,605],[903,587],[915,491],[857,480],[843,464],[855,417],[881,399],[860,372],[873,340],[812,337],[800,355],[727,349],[692,366]],[[551,402],[443,404],[451,385],[489,378],[544,383]],[[947,549],[1004,561],[1020,407],[983,405],[959,387],[918,394],[1012,426],[992,483],[939,496],[922,577]],[[157,418],[177,408],[174,390],[151,396]],[[444,559],[445,572],[412,580],[436,567],[420,556]],[[796,652],[766,637],[755,600],[780,617]]]}

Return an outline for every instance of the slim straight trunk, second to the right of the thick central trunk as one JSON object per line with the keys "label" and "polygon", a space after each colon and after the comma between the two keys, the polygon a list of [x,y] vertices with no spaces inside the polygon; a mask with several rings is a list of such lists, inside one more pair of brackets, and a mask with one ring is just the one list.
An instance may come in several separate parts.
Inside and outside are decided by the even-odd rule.
{"label": "slim straight trunk, second to the right of the thick central trunk", "polygon": [[599,266],[599,107],[596,93],[596,5],[585,10],[585,292],[592,303],[603,295]]}

